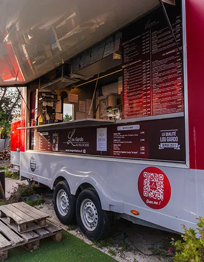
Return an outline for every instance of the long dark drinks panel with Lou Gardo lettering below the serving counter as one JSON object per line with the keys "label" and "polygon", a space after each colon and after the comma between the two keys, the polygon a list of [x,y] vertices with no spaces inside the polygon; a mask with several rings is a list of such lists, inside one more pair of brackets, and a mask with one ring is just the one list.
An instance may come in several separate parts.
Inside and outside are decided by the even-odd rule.
{"label": "long dark drinks panel with Lou Gardo lettering below the serving counter", "polygon": [[184,117],[34,131],[31,132],[30,149],[185,162]]}

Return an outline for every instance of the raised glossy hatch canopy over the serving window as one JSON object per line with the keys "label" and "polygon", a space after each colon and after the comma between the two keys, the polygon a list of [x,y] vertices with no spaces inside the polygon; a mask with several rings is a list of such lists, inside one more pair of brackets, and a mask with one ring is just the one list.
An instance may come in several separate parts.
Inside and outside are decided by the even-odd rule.
{"label": "raised glossy hatch canopy over the serving window", "polygon": [[158,4],[158,0],[1,0],[0,85],[22,85],[44,75]]}

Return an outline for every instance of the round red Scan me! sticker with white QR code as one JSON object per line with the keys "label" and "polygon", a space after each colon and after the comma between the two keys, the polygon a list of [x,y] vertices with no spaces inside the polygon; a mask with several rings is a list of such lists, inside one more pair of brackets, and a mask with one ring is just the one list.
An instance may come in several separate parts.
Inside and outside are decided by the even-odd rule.
{"label": "round red Scan me! sticker with white QR code", "polygon": [[171,198],[171,185],[168,177],[158,168],[142,170],[138,177],[138,191],[143,202],[153,208],[165,207]]}

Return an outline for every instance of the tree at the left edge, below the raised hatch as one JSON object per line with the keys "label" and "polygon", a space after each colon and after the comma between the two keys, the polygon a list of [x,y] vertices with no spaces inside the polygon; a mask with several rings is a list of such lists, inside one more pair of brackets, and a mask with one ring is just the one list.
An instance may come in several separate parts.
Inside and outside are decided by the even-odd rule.
{"label": "tree at the left edge, below the raised hatch", "polygon": [[16,87],[0,87],[1,138],[8,137],[13,117],[20,115],[20,101],[20,93]]}

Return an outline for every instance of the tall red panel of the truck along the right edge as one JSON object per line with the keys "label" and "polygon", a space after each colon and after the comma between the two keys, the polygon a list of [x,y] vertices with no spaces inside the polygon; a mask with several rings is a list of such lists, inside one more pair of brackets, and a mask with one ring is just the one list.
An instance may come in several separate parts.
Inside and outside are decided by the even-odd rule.
{"label": "tall red panel of the truck along the right edge", "polygon": [[204,170],[204,0],[186,0],[190,168]]}

